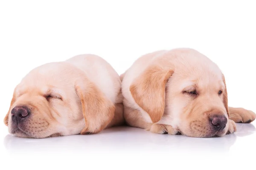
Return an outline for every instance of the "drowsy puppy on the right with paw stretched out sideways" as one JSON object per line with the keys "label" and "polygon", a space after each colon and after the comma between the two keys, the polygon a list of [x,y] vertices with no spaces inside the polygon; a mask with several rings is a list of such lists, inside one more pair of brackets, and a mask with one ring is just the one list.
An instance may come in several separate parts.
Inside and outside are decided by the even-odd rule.
{"label": "drowsy puppy on the right with paw stretched out sideways", "polygon": [[153,133],[224,136],[236,131],[234,121],[256,118],[252,111],[228,107],[221,70],[193,49],[146,54],[121,79],[125,121]]}

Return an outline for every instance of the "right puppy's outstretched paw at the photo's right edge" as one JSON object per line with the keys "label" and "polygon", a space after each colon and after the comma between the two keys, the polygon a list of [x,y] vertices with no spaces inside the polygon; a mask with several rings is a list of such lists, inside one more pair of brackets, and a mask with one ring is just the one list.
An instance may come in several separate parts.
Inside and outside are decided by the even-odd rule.
{"label": "right puppy's outstretched paw at the photo's right edge", "polygon": [[230,119],[236,123],[250,123],[256,119],[256,114],[244,108],[230,108]]}

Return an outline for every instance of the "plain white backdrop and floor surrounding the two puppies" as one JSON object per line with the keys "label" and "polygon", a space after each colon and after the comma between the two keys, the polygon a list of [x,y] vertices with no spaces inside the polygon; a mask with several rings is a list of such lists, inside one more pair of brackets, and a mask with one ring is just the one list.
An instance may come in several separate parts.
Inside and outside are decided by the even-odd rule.
{"label": "plain white backdrop and floor surrounding the two puppies", "polygon": [[[195,48],[216,62],[226,77],[229,105],[256,111],[255,7],[253,0],[1,0],[1,119],[17,83],[39,65],[91,53],[122,74],[143,54],[177,47]],[[2,123],[1,166],[254,169],[254,125],[239,125],[238,133],[221,139],[124,128],[96,136],[25,140],[8,136]]]}

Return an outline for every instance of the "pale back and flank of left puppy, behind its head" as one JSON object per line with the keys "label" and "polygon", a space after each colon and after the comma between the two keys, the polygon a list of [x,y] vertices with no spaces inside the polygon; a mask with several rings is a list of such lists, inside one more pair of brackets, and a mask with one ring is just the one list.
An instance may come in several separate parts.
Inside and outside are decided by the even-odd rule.
{"label": "pale back and flank of left puppy, behind its head", "polygon": [[80,68],[96,86],[115,103],[115,115],[107,127],[123,125],[123,96],[121,92],[121,80],[112,66],[99,56],[84,54],[67,59]]}

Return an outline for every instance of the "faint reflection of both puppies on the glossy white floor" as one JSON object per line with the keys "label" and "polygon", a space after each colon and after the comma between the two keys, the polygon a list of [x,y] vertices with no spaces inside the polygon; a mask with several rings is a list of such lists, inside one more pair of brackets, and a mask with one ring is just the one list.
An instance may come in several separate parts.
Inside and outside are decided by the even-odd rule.
{"label": "faint reflection of both puppies on the glossy white floor", "polygon": [[238,136],[255,133],[252,124],[237,124],[237,133],[217,138],[192,138],[160,135],[134,127],[114,127],[93,135],[24,139],[12,135],[4,138],[10,153],[227,153]]}

